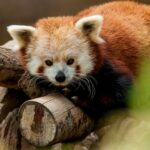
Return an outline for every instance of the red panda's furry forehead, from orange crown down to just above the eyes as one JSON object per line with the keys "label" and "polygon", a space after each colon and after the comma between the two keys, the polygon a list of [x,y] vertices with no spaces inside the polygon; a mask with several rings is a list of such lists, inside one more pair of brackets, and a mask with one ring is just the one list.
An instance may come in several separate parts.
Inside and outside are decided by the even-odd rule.
{"label": "red panda's furry forehead, from orange crown down to just above the eyes", "polygon": [[56,17],[42,19],[37,23],[36,54],[53,55],[64,60],[67,56],[77,56],[88,50],[88,42],[75,28],[72,17]]}

